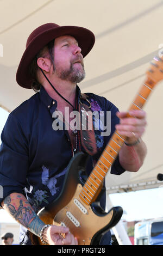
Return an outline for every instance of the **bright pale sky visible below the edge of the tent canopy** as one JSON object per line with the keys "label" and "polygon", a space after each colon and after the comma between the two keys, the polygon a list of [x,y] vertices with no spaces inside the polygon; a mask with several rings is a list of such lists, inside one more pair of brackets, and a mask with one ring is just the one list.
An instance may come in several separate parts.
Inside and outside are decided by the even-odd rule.
{"label": "bright pale sky visible below the edge of the tent canopy", "polygon": [[[0,107],[0,133],[8,115],[9,113]],[[114,206],[121,206],[126,212],[123,215],[126,221],[163,217],[163,187],[128,193],[115,193],[110,195],[110,199]],[[12,220],[7,212],[0,210],[0,222],[15,221]]]}

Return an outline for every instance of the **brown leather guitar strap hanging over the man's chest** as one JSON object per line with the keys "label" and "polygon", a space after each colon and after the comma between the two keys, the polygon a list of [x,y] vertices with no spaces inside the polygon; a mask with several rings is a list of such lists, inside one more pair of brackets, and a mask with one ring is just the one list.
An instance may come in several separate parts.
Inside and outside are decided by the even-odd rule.
{"label": "brown leather guitar strap hanging over the man's chest", "polygon": [[80,113],[80,138],[81,143],[89,155],[95,155],[97,153],[97,145],[95,138],[95,131],[93,128],[93,119],[91,111],[91,102],[87,100],[87,95],[81,93],[80,99],[87,101],[89,106],[79,100],[79,113]]}

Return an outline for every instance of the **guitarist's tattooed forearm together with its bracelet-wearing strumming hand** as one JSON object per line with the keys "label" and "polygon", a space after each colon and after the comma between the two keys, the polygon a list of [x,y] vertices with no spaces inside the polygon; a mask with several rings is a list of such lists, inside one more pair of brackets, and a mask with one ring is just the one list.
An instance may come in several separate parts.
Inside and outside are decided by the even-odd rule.
{"label": "guitarist's tattooed forearm together with its bracelet-wearing strumming hand", "polygon": [[[11,193],[2,202],[3,209],[6,210],[18,223],[24,225],[33,234],[39,236],[42,227],[45,225],[39,216],[36,215],[27,198],[20,193]],[[65,233],[65,237],[60,234]],[[52,225],[43,232],[49,245],[78,245],[68,228]]]}

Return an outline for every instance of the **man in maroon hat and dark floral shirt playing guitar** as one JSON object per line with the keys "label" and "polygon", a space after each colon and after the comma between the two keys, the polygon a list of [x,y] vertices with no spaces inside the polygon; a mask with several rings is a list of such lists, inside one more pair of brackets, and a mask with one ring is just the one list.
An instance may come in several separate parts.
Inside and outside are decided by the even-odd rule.
{"label": "man in maroon hat and dark floral shirt playing guitar", "polygon": [[[66,107],[69,113],[83,103],[92,112],[102,111],[105,116],[111,111],[111,134],[102,136],[101,130],[95,129],[97,148],[90,152],[87,174],[108,143],[115,125],[119,134],[127,139],[112,164],[111,173],[136,172],[146,156],[146,145],[140,139],[146,126],[145,112],[133,111],[130,115],[134,117],[126,118],[126,112],[117,113],[118,109],[104,97],[95,94],[85,97],[80,93],[77,83],[85,77],[83,58],[94,42],[93,33],[81,27],[47,23],[36,28],[27,40],[16,80],[20,86],[40,92],[12,111],[2,132],[1,204],[17,222],[49,245],[78,245],[77,237],[67,227],[47,227],[36,215],[59,196],[71,157],[85,150],[82,133],[72,127],[73,118],[67,118]],[[57,129],[55,125],[56,111],[62,117],[64,129]],[[94,118],[93,126],[96,125]],[[101,205],[105,207],[105,198],[101,199]],[[61,233],[65,236],[61,237]],[[27,236],[23,236],[22,243],[29,244]],[[109,232],[101,244],[110,244]]]}

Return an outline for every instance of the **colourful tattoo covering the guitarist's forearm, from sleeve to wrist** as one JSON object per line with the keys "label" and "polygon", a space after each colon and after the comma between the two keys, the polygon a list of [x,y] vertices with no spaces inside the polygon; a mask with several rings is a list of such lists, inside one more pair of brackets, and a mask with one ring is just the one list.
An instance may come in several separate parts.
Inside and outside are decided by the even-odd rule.
{"label": "colourful tattoo covering the guitarist's forearm, from sleeve to wrist", "polygon": [[36,215],[32,206],[23,195],[12,193],[4,199],[3,204],[3,208],[8,210],[9,214],[14,217],[18,223],[39,236],[45,223]]}

